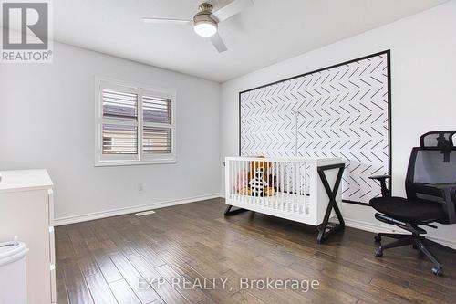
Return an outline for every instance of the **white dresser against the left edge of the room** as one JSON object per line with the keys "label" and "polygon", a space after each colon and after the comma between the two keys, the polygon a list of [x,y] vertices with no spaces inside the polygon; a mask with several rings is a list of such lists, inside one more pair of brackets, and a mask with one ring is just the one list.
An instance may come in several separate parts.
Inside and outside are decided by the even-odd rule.
{"label": "white dresser against the left edge of the room", "polygon": [[0,174],[0,241],[18,236],[30,250],[26,255],[27,303],[55,303],[53,183],[46,170]]}

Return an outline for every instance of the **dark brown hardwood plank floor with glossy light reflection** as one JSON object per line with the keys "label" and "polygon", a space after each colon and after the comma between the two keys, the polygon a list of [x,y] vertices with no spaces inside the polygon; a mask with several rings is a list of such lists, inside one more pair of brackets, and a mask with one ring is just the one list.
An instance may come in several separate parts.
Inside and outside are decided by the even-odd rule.
{"label": "dark brown hardwood plank floor with glossy light reflection", "polygon": [[[346,228],[317,245],[315,227],[251,212],[223,217],[224,207],[215,199],[58,226],[57,303],[456,303],[454,251],[431,246],[445,268],[437,278],[411,246],[376,258],[371,233]],[[141,277],[160,287],[138,288]],[[196,284],[217,277],[225,288]],[[245,289],[243,277],[319,288]]]}

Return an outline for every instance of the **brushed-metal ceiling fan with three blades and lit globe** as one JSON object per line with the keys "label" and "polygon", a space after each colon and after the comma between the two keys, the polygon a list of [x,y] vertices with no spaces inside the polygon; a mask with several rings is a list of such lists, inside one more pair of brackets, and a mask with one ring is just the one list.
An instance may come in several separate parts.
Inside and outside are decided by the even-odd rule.
{"label": "brushed-metal ceiling fan with three blades and lit globe", "polygon": [[229,5],[223,6],[216,12],[212,13],[212,5],[209,3],[202,3],[199,6],[200,11],[193,16],[193,19],[172,19],[172,18],[154,18],[144,17],[145,23],[156,24],[171,24],[171,25],[191,25],[193,29],[201,37],[209,37],[212,45],[222,53],[228,48],[223,43],[222,37],[218,33],[218,24],[226,20],[245,8],[254,5],[253,0],[234,0]]}

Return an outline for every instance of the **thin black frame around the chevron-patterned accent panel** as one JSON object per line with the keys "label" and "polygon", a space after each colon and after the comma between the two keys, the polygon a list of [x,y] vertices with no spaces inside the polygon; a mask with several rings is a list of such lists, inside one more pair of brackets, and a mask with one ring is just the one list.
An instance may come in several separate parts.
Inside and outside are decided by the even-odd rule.
{"label": "thin black frame around the chevron-patterned accent panel", "polygon": [[[347,64],[350,64],[350,63],[353,63],[353,62],[357,62],[357,61],[360,61],[360,60],[364,60],[364,59],[367,59],[367,58],[372,58],[372,57],[377,57],[379,55],[384,55],[386,54],[387,55],[387,63],[388,63],[388,145],[389,145],[389,162],[388,162],[388,173],[389,175],[392,176],[392,133],[391,133],[391,126],[392,126],[392,120],[391,120],[391,50],[388,49],[388,50],[384,50],[384,51],[381,51],[381,52],[378,52],[378,53],[374,53],[374,54],[370,54],[370,55],[367,55],[367,56],[364,56],[364,57],[360,57],[360,58],[355,58],[355,59],[351,59],[351,60],[347,60],[345,62],[342,62],[342,63],[338,63],[336,65],[333,65],[333,66],[329,66],[329,67],[326,67],[326,68],[318,68],[316,70],[313,70],[311,72],[306,72],[304,74],[300,74],[300,75],[295,75],[293,77],[289,77],[287,79],[280,79],[280,80],[277,80],[277,81],[274,81],[274,82],[271,82],[271,83],[267,83],[267,84],[264,84],[262,86],[259,86],[259,87],[256,87],[256,88],[253,88],[253,89],[245,89],[243,91],[240,91],[239,94],[238,94],[238,105],[239,105],[239,108],[238,108],[238,121],[239,121],[239,125],[238,125],[238,128],[239,128],[239,132],[238,132],[238,143],[239,143],[239,156],[242,156],[241,155],[241,95],[243,93],[246,93],[248,91],[251,91],[251,90],[254,90],[254,89],[262,89],[264,87],[268,87],[268,86],[272,86],[272,85],[275,85],[277,83],[280,83],[280,82],[284,82],[284,81],[287,81],[287,80],[291,80],[291,79],[296,79],[296,78],[299,78],[299,77],[304,77],[304,76],[307,76],[307,75],[310,75],[310,74],[314,74],[314,73],[318,73],[318,72],[321,72],[321,71],[324,71],[326,69],[330,69],[330,68],[337,68],[337,67],[341,67],[341,66],[344,66],[344,65],[347,65]],[[389,178],[389,193],[392,193],[392,178]],[[369,204],[367,203],[362,203],[362,202],[354,202],[354,201],[349,201],[349,200],[342,200],[343,203],[349,203],[349,204],[359,204],[359,205],[366,205],[366,206],[369,206]]]}

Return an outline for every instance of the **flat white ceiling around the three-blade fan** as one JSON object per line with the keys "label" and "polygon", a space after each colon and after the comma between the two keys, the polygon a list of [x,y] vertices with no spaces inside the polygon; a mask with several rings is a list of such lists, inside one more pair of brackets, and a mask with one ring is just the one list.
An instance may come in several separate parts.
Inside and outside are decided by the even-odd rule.
{"label": "flat white ceiling around the three-blade fan", "polygon": [[[220,24],[228,51],[217,53],[192,26],[141,21],[143,16],[192,18],[202,0],[57,0],[54,37],[223,82],[446,1],[254,0],[254,6]],[[216,10],[231,0],[208,2]]]}

